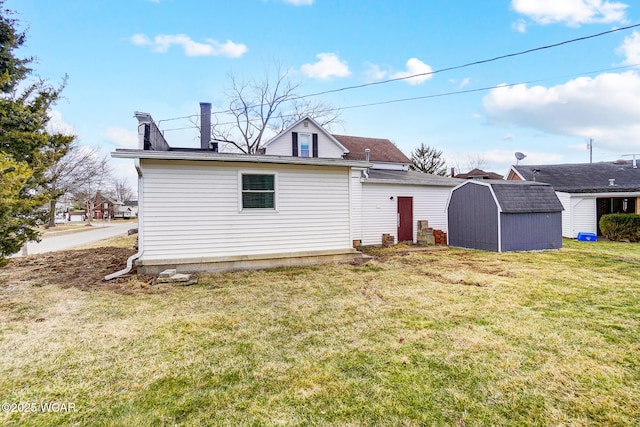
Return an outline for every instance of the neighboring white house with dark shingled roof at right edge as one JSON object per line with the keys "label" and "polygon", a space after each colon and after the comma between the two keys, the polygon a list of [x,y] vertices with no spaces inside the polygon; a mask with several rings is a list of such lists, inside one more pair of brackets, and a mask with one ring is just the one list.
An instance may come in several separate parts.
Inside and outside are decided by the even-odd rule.
{"label": "neighboring white house with dark shingled roof at right edge", "polygon": [[640,213],[640,169],[635,161],[512,166],[508,180],[551,184],[564,206],[562,235],[600,235],[609,213]]}

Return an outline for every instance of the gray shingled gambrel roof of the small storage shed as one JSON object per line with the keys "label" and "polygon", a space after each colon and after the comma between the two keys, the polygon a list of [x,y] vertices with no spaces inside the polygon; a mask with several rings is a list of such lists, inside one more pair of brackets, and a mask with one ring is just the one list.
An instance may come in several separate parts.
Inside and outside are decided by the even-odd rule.
{"label": "gray shingled gambrel roof of the small storage shed", "polygon": [[[474,182],[474,181],[470,181]],[[560,212],[562,203],[553,187],[526,181],[485,180],[504,213]]]}

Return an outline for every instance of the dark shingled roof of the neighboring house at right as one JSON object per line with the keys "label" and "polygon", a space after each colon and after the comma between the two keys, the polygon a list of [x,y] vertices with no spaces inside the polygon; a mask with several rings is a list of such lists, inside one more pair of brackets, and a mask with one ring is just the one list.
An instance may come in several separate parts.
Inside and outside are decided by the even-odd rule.
{"label": "dark shingled roof of the neighboring house at right", "polygon": [[[614,193],[640,191],[640,168],[632,162],[599,162],[565,165],[513,166],[527,181],[551,184],[556,191],[568,193]],[[609,180],[615,179],[615,185]]]}

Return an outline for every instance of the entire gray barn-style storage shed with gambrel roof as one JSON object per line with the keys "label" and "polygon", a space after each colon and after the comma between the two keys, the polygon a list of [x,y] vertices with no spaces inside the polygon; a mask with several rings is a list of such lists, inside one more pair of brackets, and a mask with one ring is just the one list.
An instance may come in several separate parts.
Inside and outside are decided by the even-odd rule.
{"label": "entire gray barn-style storage shed with gambrel roof", "polygon": [[467,181],[449,197],[449,245],[496,252],[559,249],[562,210],[548,184]]}

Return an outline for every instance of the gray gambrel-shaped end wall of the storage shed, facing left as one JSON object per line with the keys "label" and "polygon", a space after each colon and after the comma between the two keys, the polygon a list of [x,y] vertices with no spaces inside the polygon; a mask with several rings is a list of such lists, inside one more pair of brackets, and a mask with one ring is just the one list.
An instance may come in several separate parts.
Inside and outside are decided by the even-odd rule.
{"label": "gray gambrel-shaped end wall of the storage shed, facing left", "polygon": [[498,251],[498,207],[488,187],[457,188],[447,211],[450,246]]}

